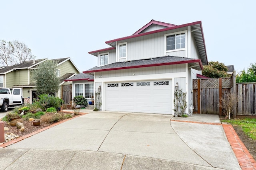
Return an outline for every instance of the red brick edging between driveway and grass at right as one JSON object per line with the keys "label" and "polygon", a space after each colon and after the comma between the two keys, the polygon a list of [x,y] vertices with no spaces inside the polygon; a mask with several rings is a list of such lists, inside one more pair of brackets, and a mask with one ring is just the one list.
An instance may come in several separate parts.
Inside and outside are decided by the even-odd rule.
{"label": "red brick edging between driveway and grass at right", "polygon": [[242,143],[232,125],[222,124],[222,127],[242,170],[256,170],[254,158],[247,150],[244,143]]}

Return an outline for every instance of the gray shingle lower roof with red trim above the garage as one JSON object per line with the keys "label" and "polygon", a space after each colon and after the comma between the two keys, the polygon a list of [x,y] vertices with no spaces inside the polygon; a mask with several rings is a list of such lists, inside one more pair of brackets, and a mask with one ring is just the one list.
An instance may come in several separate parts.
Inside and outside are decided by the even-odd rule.
{"label": "gray shingle lower roof with red trim above the garage", "polygon": [[[128,68],[138,68],[138,67],[148,67],[148,66],[159,66],[159,65],[170,65],[170,64],[181,64],[181,63],[191,63],[191,65],[196,65],[192,63],[201,63],[200,59],[192,59],[187,57],[176,57],[176,56],[164,56],[164,57],[156,57],[150,59],[141,59],[134,61],[125,61],[125,62],[117,62],[112,63],[96,68],[92,68],[84,71],[84,73],[90,72],[98,72],[98,71],[108,71],[108,70],[118,70],[118,69],[128,69]],[[202,63],[201,63],[202,65]],[[196,68],[195,68],[196,69]],[[197,68],[201,70],[202,67]]]}

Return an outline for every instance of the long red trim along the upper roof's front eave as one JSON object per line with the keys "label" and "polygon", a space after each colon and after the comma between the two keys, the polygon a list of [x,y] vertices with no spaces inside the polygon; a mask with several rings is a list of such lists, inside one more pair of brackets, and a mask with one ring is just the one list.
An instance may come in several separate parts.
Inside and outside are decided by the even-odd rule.
{"label": "long red trim along the upper roof's front eave", "polygon": [[[146,32],[146,33],[140,33],[140,34],[130,35],[130,36],[122,37],[122,38],[118,38],[118,39],[112,39],[112,40],[110,40],[110,41],[105,41],[105,43],[108,44],[108,43],[112,43],[112,42],[115,42],[115,41],[121,41],[121,40],[124,40],[124,39],[129,39],[129,38],[134,38],[134,37],[140,37],[140,36],[143,36],[143,35],[149,35],[149,34],[158,33],[158,32],[162,32],[162,31],[168,31],[168,30],[171,30],[171,29],[177,29],[177,28],[181,28],[181,27],[187,27],[187,26],[190,26],[190,25],[200,24],[200,26],[201,26],[201,23],[202,23],[202,21],[196,21],[196,22],[192,22],[192,23],[186,23],[186,24],[177,25],[177,26],[168,27],[168,28],[163,28],[163,29],[158,29],[158,30],[154,30],[154,31]],[[201,26],[201,29],[202,29],[202,26]]]}

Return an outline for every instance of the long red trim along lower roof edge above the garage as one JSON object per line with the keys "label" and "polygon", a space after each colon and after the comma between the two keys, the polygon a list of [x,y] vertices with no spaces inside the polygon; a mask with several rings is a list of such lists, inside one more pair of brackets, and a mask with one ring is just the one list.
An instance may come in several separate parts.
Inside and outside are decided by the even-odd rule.
{"label": "long red trim along lower roof edge above the garage", "polygon": [[129,68],[142,68],[142,67],[151,67],[151,66],[164,66],[164,65],[173,65],[173,64],[185,64],[185,63],[199,63],[201,69],[203,69],[203,65],[200,59],[195,60],[187,60],[187,61],[176,61],[170,63],[158,63],[158,64],[147,64],[147,65],[139,65],[139,66],[127,66],[127,67],[118,67],[118,68],[106,68],[100,70],[88,70],[83,71],[83,73],[90,73],[90,72],[100,72],[100,71],[111,71],[111,70],[122,70],[122,69],[129,69]]}

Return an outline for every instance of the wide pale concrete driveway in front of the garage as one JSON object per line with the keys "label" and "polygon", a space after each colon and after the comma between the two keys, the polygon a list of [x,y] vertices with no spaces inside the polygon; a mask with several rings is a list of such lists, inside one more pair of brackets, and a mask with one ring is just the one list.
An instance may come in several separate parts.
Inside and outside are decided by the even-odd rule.
{"label": "wide pale concrete driveway in front of the garage", "polygon": [[218,115],[80,111],[0,149],[0,169],[240,169]]}

